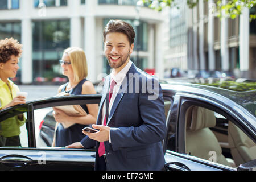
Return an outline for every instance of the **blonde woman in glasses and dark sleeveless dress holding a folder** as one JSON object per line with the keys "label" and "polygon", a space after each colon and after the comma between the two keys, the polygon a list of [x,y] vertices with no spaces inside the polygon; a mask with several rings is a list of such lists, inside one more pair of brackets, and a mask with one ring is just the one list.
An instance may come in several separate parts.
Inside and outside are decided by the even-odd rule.
{"label": "blonde woman in glasses and dark sleeveless dress holding a folder", "polygon": [[[94,86],[92,82],[86,80],[88,75],[87,61],[85,52],[81,48],[69,47],[65,49],[62,59],[60,60],[63,75],[68,77],[68,82],[61,85],[60,92],[67,92],[73,95],[94,94]],[[85,126],[96,123],[98,114],[97,104],[81,105],[87,113],[82,117],[71,117],[59,109],[53,108],[53,117],[56,120],[55,135],[52,146],[65,147],[74,142],[80,142],[85,137],[82,129]],[[64,128],[61,122],[74,122],[68,128]]]}

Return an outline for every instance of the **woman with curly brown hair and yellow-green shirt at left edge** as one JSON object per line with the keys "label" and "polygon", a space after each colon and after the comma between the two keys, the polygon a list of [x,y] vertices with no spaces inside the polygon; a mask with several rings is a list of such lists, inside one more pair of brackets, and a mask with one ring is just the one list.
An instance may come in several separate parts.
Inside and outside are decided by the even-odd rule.
{"label": "woman with curly brown hair and yellow-green shirt at left edge", "polygon": [[[0,40],[0,110],[26,103],[24,96],[17,96],[19,88],[9,78],[16,77],[22,44],[13,38]],[[20,126],[25,122],[23,114],[0,122],[0,147],[21,146]]]}

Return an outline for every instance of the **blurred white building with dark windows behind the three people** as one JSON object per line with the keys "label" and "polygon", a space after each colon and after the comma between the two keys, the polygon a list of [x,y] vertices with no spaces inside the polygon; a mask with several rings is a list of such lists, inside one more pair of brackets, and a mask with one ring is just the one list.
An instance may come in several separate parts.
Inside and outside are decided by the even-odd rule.
{"label": "blurred white building with dark windows behind the three people", "polygon": [[161,13],[137,0],[1,0],[0,39],[13,37],[23,44],[16,78],[22,84],[65,81],[59,59],[68,47],[84,49],[88,79],[95,82],[110,72],[102,38],[110,19],[133,25],[137,36],[131,60],[163,74]]}

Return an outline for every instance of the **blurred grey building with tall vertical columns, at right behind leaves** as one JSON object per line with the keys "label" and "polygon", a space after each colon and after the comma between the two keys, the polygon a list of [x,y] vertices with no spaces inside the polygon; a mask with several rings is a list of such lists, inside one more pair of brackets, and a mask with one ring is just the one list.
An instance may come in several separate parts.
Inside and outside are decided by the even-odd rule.
{"label": "blurred grey building with tall vertical columns, at right behind leaves", "polygon": [[164,10],[166,77],[181,69],[188,70],[186,76],[201,70],[256,79],[256,20],[249,19],[255,8],[245,9],[235,19],[220,19],[213,0],[199,0],[193,9],[186,0],[176,3]]}

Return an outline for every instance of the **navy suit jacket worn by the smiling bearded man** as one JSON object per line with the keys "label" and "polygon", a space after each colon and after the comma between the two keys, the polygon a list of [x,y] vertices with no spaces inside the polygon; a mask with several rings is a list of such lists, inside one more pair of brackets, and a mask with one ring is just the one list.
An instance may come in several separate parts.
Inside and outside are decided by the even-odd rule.
{"label": "navy suit jacket worn by the smiling bearded man", "polygon": [[[109,82],[110,75],[105,78],[97,125],[102,123],[102,106],[109,90]],[[107,126],[110,127],[111,138],[111,143],[104,142],[107,169],[163,169],[162,140],[166,127],[162,89],[156,78],[132,64],[115,97]],[[89,140],[86,137],[81,141],[85,148],[92,142]],[[96,170],[99,144],[100,142],[96,142]]]}

